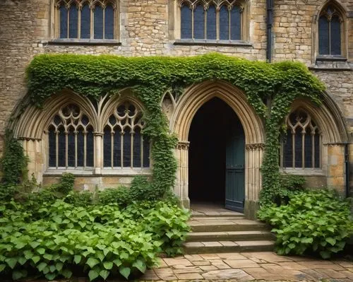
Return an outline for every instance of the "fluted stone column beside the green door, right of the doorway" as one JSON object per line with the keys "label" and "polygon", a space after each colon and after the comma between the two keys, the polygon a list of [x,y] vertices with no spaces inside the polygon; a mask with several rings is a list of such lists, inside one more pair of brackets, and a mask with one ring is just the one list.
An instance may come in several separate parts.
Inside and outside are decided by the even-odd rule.
{"label": "fluted stone column beside the green door, right of the doorway", "polygon": [[245,203],[246,218],[256,218],[258,200],[262,186],[261,164],[263,162],[263,143],[246,144],[245,146]]}

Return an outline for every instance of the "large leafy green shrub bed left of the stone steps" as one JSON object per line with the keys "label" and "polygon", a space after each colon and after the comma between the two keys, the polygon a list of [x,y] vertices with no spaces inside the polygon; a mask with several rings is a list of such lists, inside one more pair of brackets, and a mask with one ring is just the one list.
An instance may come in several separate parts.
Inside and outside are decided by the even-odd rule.
{"label": "large leafy green shrub bed left of the stone steps", "polygon": [[0,204],[0,273],[13,279],[70,278],[90,281],[120,274],[134,278],[156,264],[164,247],[179,252],[189,213],[166,202],[76,206],[56,199],[34,216],[16,201]]}

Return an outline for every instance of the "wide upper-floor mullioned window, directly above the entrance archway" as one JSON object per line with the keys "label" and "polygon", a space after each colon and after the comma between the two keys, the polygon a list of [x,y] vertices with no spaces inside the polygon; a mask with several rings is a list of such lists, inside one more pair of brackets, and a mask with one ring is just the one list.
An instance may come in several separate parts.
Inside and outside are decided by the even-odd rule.
{"label": "wide upper-floor mullioned window, directly above the entrance archway", "polygon": [[239,0],[181,0],[181,39],[241,40],[243,7]]}

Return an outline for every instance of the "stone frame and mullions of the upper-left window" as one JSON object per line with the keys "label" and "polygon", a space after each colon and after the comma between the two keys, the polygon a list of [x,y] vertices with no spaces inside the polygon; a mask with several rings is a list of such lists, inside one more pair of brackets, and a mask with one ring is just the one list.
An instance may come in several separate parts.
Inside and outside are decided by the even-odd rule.
{"label": "stone frame and mullions of the upper-left window", "polygon": [[[65,2],[68,5],[76,5],[78,9],[82,8],[83,4],[90,6],[91,18],[90,18],[90,38],[60,38],[59,34],[59,5],[61,2]],[[54,45],[120,45],[120,0],[50,0],[50,26],[49,26],[49,44]],[[114,38],[113,39],[94,39],[92,38],[94,30],[92,30],[92,5],[99,4],[101,6],[112,4],[114,9]],[[80,23],[80,13],[78,13],[78,22]],[[78,25],[80,30],[80,24]],[[78,31],[78,37],[79,37]]]}

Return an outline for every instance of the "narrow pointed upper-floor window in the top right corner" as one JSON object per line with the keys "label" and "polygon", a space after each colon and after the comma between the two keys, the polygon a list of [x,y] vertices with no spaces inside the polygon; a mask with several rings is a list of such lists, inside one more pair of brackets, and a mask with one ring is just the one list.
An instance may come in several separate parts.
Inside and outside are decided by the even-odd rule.
{"label": "narrow pointed upper-floor window in the top right corner", "polygon": [[318,53],[342,54],[342,23],[340,11],[334,5],[323,8],[318,18]]}

